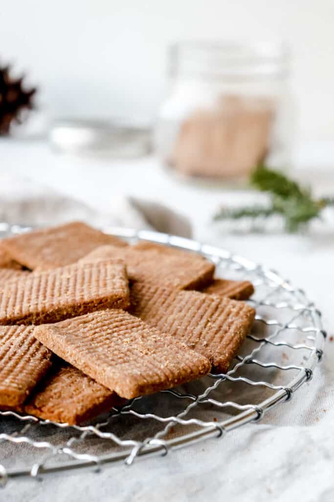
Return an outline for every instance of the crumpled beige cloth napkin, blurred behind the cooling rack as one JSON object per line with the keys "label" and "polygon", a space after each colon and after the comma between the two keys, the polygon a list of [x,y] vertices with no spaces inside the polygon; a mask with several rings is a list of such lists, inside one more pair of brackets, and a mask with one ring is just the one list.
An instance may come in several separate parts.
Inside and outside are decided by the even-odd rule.
{"label": "crumpled beige cloth napkin, blurred behind the cooling rack", "polygon": [[0,221],[24,225],[54,225],[84,220],[96,226],[153,229],[191,237],[188,219],[156,202],[134,197],[111,197],[110,210],[100,212],[28,178],[0,175]]}

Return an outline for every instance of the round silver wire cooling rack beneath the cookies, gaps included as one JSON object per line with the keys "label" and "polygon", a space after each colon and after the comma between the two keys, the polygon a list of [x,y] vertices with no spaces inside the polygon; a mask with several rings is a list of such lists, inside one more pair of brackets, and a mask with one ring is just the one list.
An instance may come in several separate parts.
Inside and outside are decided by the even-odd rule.
{"label": "round silver wire cooling rack beneath the cookies, gaps included", "polygon": [[[0,236],[29,230],[0,224]],[[154,455],[223,436],[260,420],[312,378],[321,359],[325,332],[321,314],[305,293],[276,272],[225,249],[173,235],[108,227],[133,243],[151,240],[213,261],[217,277],[249,280],[255,293],[254,327],[227,373],[135,398],[84,426],[68,426],[12,411],[0,412],[0,483]],[[6,458],[6,462],[5,459]],[[6,465],[5,465],[6,463]],[[2,465],[3,464],[3,465]]]}

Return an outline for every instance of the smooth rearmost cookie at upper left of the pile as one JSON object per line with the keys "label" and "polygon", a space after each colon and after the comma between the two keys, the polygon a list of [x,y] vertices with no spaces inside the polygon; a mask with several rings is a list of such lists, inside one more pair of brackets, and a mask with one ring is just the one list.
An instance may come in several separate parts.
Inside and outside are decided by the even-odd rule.
{"label": "smooth rearmost cookie at upper left of the pile", "polygon": [[104,244],[128,245],[80,221],[34,230],[2,241],[9,255],[31,270],[70,265]]}

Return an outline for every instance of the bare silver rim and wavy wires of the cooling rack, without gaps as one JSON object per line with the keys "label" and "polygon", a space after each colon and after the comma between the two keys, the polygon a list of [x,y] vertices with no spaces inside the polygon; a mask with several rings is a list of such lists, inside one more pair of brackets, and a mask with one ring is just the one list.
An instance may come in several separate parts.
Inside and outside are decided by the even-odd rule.
{"label": "bare silver rim and wavy wires of the cooling rack, without gaps", "polygon": [[[0,233],[1,234],[16,234],[16,233],[22,233],[24,231],[30,230],[31,227],[25,227],[22,225],[10,225],[8,223],[0,223]],[[75,430],[78,430],[81,432],[81,435],[79,436],[79,440],[85,438],[85,435],[87,433],[94,433],[100,438],[108,438],[109,440],[113,440],[117,445],[124,446],[124,447],[130,447],[127,448],[125,451],[117,452],[117,453],[112,453],[112,454],[106,454],[106,455],[101,455],[99,457],[95,455],[90,455],[90,454],[80,454],[76,453],[74,450],[71,449],[71,445],[73,442],[77,441],[78,438],[72,437],[70,440],[67,441],[66,446],[59,448],[57,446],[53,446],[51,443],[46,442],[46,441],[34,441],[30,439],[27,436],[24,435],[18,435],[17,432],[12,433],[12,434],[0,434],[0,440],[2,441],[11,441],[13,443],[28,443],[29,445],[36,447],[36,448],[47,448],[50,450],[51,454],[47,456],[47,458],[44,458],[44,460],[40,463],[35,463],[31,468],[23,468],[23,469],[13,469],[13,470],[7,470],[3,465],[0,464],[0,484],[5,485],[8,478],[20,478],[20,477],[26,477],[26,476],[31,476],[31,477],[40,477],[42,474],[49,474],[49,473],[57,473],[57,472],[62,472],[62,471],[70,471],[74,469],[79,469],[79,468],[84,468],[84,467],[94,467],[96,470],[99,470],[103,465],[105,464],[113,464],[116,462],[124,461],[127,464],[131,464],[133,460],[136,458],[145,458],[145,457],[151,457],[151,456],[157,456],[157,455],[166,455],[170,450],[173,450],[175,448],[179,448],[184,445],[189,445],[191,443],[195,443],[197,441],[200,441],[202,439],[206,438],[212,438],[212,437],[220,437],[223,436],[225,433],[240,427],[244,424],[247,424],[249,422],[257,421],[260,420],[265,412],[267,412],[269,409],[273,408],[274,406],[277,406],[279,403],[288,401],[292,397],[293,393],[306,381],[310,380],[312,378],[313,370],[316,364],[320,361],[322,354],[323,354],[323,344],[324,344],[324,339],[326,337],[325,331],[322,329],[322,324],[321,324],[321,313],[314,307],[312,303],[310,303],[306,296],[305,293],[300,290],[293,288],[288,281],[283,280],[279,275],[265,267],[262,267],[261,265],[257,265],[256,263],[243,258],[241,256],[237,255],[232,255],[229,253],[227,250],[220,248],[220,247],[215,247],[207,244],[200,244],[199,242],[196,242],[191,239],[186,239],[183,237],[177,237],[174,235],[169,235],[165,233],[159,233],[155,231],[149,231],[149,230],[133,230],[133,229],[128,229],[128,228],[119,228],[119,227],[105,227],[103,228],[103,231],[109,234],[116,235],[118,237],[123,237],[129,240],[130,242],[138,241],[138,240],[150,240],[154,241],[157,243],[162,243],[169,245],[171,247],[177,247],[177,248],[182,248],[184,250],[192,251],[198,254],[201,254],[212,261],[215,262],[216,265],[219,265],[223,262],[225,264],[232,264],[234,267],[234,270],[243,270],[247,272],[252,272],[258,276],[264,283],[264,280],[268,280],[271,283],[273,283],[275,286],[273,287],[275,290],[281,289],[284,292],[288,292],[291,296],[293,296],[296,300],[296,303],[294,304],[288,304],[286,301],[282,302],[270,302],[268,300],[267,295],[262,301],[260,302],[254,302],[255,306],[268,306],[268,307],[273,307],[276,309],[283,309],[283,308],[290,308],[293,312],[296,312],[296,316],[299,313],[307,312],[310,315],[310,319],[312,322],[312,326],[302,328],[298,327],[293,324],[293,319],[296,316],[293,316],[290,321],[286,322],[284,325],[281,325],[281,323],[275,319],[268,319],[266,320],[260,315],[256,316],[256,319],[258,321],[262,321],[265,325],[267,326],[276,326],[278,328],[278,331],[280,329],[295,329],[297,331],[300,331],[302,333],[307,333],[307,332],[313,332],[314,333],[314,346],[306,346],[306,345],[291,345],[288,342],[281,341],[281,342],[273,342],[272,340],[269,340],[269,338],[262,337],[262,338],[256,338],[253,335],[249,335],[248,338],[256,341],[259,343],[258,348],[253,349],[250,354],[247,354],[243,357],[237,356],[237,363],[233,367],[233,369],[229,370],[226,374],[210,374],[211,378],[213,379],[214,383],[207,387],[207,389],[204,391],[199,396],[191,395],[191,394],[184,394],[184,395],[179,395],[177,391],[171,389],[168,391],[162,391],[162,392],[168,392],[172,394],[175,397],[179,398],[189,398],[191,400],[190,404],[187,405],[182,412],[178,413],[177,416],[173,417],[159,417],[158,415],[150,414],[150,413],[145,413],[141,414],[138,412],[135,412],[132,410],[132,404],[136,401],[132,400],[130,404],[124,405],[122,408],[114,408],[113,410],[115,411],[115,414],[126,414],[126,413],[132,413],[138,418],[154,418],[155,420],[158,420],[162,423],[166,423],[166,427],[162,430],[159,431],[155,434],[153,438],[148,438],[145,441],[139,442],[139,441],[134,441],[134,440],[121,440],[118,436],[113,434],[112,432],[102,432],[100,431],[100,427],[102,425],[105,425],[106,423],[103,424],[96,424],[95,426],[88,425],[88,426],[72,426]],[[276,336],[277,332],[273,335]],[[260,348],[262,345],[266,343],[271,343],[274,345],[286,345],[292,349],[298,349],[298,348],[304,348],[307,349],[309,352],[309,356],[307,360],[305,360],[305,367],[304,366],[297,366],[297,365],[287,365],[287,366],[282,366],[279,365],[275,362],[268,362],[268,363],[263,363],[258,361],[256,358],[254,359],[252,356],[254,353],[259,352]],[[238,367],[240,367],[242,364],[246,362],[253,362],[255,364],[258,364],[259,366],[262,366],[262,368],[267,368],[267,367],[275,367],[280,370],[286,370],[286,369],[296,369],[298,370],[298,373],[294,378],[285,386],[279,386],[279,385],[272,385],[268,382],[253,382],[249,379],[246,379],[242,376],[237,376],[233,377],[232,374],[236,371]],[[262,385],[264,387],[267,387],[272,390],[277,390],[272,396],[269,398],[265,399],[258,405],[238,405],[237,403],[226,401],[226,402],[217,402],[215,400],[212,400],[208,398],[209,393],[216,389],[218,385],[224,381],[224,380],[229,380],[231,382],[245,382],[249,385],[252,386],[258,386]],[[228,419],[223,420],[221,422],[203,422],[197,419],[188,419],[184,420],[183,417],[185,417],[188,412],[193,409],[194,407],[197,406],[198,403],[207,403],[210,402],[214,405],[217,405],[220,408],[224,408],[227,406],[232,406],[235,410],[239,410],[240,413],[234,416],[230,416]],[[108,424],[109,420],[115,416],[115,414],[111,415],[108,419]],[[20,416],[15,412],[0,412],[0,415],[3,417],[6,417],[6,415],[11,415],[15,416],[18,420],[22,422],[27,422],[27,425],[24,427],[24,429],[21,431],[21,434],[23,434],[26,430],[29,429],[31,423],[39,423],[41,425],[46,425],[46,424],[53,424],[55,426],[58,426],[60,428],[66,428],[68,427],[66,424],[55,424],[54,422],[49,422],[48,420],[43,421],[39,420],[35,417],[31,416]],[[187,424],[195,424],[197,426],[200,426],[200,430],[196,430],[194,432],[184,434],[182,436],[178,436],[172,439],[162,439],[163,436],[165,436],[168,433],[168,430],[170,429],[171,426],[175,425],[176,423],[182,424],[182,425],[187,425]],[[72,460],[72,462],[64,462],[62,464],[56,464],[56,465],[51,465],[48,467],[45,467],[44,464],[50,457],[53,455],[59,454],[59,453],[64,453],[68,456],[70,456],[72,459],[76,460],[75,462]]]}

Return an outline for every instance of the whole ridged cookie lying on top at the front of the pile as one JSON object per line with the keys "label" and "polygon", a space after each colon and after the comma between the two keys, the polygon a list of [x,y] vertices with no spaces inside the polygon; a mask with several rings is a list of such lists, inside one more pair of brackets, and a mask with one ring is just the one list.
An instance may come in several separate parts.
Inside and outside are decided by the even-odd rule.
{"label": "whole ridged cookie lying on top at the front of the pile", "polygon": [[34,335],[126,399],[169,389],[210,369],[206,357],[123,310],[103,310],[36,326]]}

